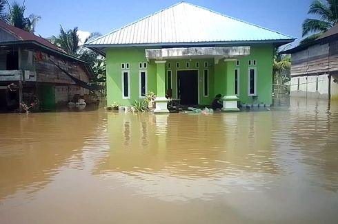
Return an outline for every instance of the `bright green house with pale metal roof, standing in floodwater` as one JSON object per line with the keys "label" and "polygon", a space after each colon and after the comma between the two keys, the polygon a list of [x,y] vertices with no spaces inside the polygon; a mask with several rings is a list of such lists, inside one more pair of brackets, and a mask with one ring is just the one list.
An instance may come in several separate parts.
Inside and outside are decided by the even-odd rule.
{"label": "bright green house with pale metal roof, standing in floodwater", "polygon": [[[106,56],[107,101],[129,106],[153,91],[155,112],[168,96],[223,110],[272,104],[274,47],[294,38],[190,3],[177,3],[86,44]],[[167,96],[167,98],[166,98]]]}

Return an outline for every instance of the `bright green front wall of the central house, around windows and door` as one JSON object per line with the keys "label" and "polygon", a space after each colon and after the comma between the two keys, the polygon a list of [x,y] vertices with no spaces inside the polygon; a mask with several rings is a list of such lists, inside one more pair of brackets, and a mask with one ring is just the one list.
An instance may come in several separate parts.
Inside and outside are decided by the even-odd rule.
{"label": "bright green front wall of the central house, around windows and door", "polygon": [[[239,100],[246,103],[272,103],[272,45],[252,45],[250,46],[250,56],[239,58]],[[107,58],[107,103],[112,104],[116,101],[123,106],[128,106],[135,100],[139,100],[139,63],[145,63],[144,47],[118,47],[110,48],[106,52]],[[248,60],[256,60],[257,69],[257,99],[248,96]],[[208,63],[208,67],[204,67],[204,63]],[[121,80],[121,63],[130,64],[130,99],[122,99],[122,80]],[[168,68],[170,63],[170,68]],[[179,68],[176,67],[179,63]],[[186,66],[189,63],[189,67]],[[199,63],[199,68],[196,67]],[[234,65],[235,62],[224,62],[219,60],[215,64],[213,58],[198,59],[182,59],[182,60],[166,60],[165,77],[166,89],[168,89],[167,72],[172,71],[172,97],[177,98],[177,71],[183,69],[197,69],[199,72],[199,104],[210,104],[217,93],[223,96],[227,92],[234,91],[235,80]],[[208,69],[209,74],[209,94],[203,96],[203,70]],[[227,78],[228,72],[233,72],[232,78]],[[157,64],[154,60],[147,63],[148,72],[148,91],[157,93]],[[227,82],[233,82],[228,83]],[[232,88],[232,90],[230,90]]]}

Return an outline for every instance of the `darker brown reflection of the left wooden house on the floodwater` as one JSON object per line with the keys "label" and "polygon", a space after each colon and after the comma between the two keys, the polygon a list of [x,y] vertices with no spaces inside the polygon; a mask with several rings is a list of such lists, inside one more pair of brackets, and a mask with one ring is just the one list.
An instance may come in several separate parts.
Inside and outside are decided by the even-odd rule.
{"label": "darker brown reflection of the left wooden house on the floodwater", "polygon": [[1,115],[0,199],[21,189],[41,190],[61,166],[81,164],[81,150],[98,117],[97,113]]}

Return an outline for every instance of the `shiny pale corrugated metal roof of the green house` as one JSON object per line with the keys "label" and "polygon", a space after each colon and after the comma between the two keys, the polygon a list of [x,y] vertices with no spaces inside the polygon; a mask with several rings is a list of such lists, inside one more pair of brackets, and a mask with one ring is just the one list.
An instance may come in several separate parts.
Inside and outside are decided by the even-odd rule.
{"label": "shiny pale corrugated metal roof of the green house", "polygon": [[294,40],[291,36],[234,19],[190,3],[177,3],[86,45],[146,45]]}

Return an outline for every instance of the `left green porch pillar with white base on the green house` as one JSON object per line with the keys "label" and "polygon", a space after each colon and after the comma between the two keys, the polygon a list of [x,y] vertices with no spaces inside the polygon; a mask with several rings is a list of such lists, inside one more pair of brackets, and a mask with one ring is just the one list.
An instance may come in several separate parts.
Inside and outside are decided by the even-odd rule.
{"label": "left green porch pillar with white base on the green house", "polygon": [[166,60],[156,60],[157,67],[157,98],[154,113],[169,113],[166,98]]}

